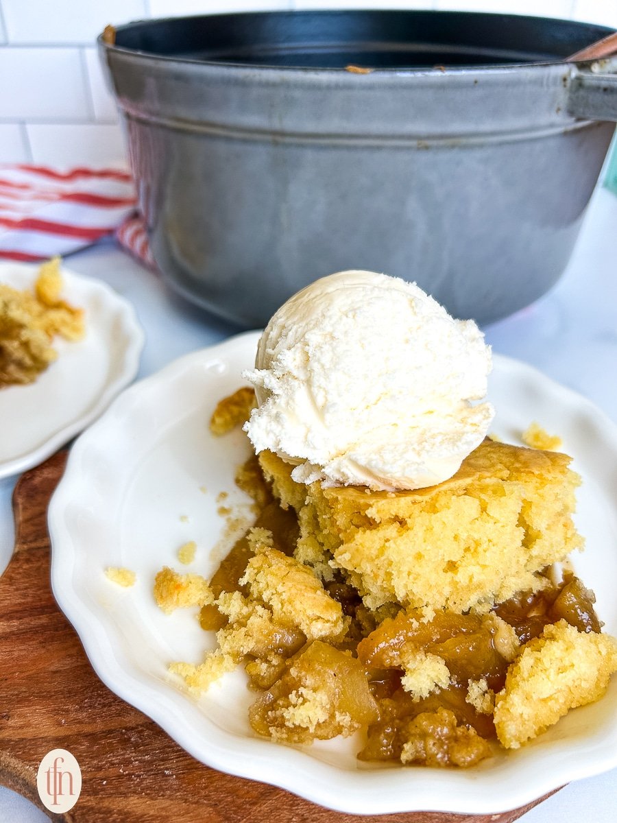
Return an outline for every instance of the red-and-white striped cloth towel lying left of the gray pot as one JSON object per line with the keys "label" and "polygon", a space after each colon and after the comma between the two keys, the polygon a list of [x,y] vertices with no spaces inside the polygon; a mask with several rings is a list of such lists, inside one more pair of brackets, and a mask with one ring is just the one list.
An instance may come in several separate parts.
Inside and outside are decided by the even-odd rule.
{"label": "red-and-white striped cloth towel lying left of the gray pot", "polygon": [[[35,261],[75,252],[113,235],[133,218],[136,202],[128,171],[0,165],[0,258]],[[145,232],[128,248],[146,260]]]}

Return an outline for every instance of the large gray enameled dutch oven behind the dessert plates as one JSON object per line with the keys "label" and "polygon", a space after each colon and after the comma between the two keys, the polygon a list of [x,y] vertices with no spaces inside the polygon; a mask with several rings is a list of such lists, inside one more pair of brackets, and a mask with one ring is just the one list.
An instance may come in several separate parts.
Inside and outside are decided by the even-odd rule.
{"label": "large gray enameled dutch oven behind the dessert plates", "polygon": [[461,12],[143,21],[100,50],[169,284],[244,327],[346,268],[461,318],[528,305],[573,248],[617,119],[600,26]]}

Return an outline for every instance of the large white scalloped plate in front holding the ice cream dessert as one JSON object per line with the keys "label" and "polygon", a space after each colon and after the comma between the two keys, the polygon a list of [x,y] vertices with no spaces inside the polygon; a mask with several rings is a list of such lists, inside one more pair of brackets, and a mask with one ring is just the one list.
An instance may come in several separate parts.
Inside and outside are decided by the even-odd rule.
{"label": "large white scalloped plate in front holding the ice cream dessert", "polygon": [[[363,764],[355,738],[275,744],[248,725],[252,696],[241,668],[200,700],[169,676],[170,661],[197,663],[214,639],[193,613],[165,616],[153,579],[163,565],[208,575],[220,560],[220,547],[212,551],[224,528],[216,497],[227,491],[232,504],[245,500],[233,477],[248,445],[240,431],[212,438],[207,423],[216,402],[241,384],[256,345],[251,332],[177,360],[124,392],[72,449],[49,509],[53,592],[101,680],[198,760],[351,813],[496,813],[617,765],[617,678],[603,700],[529,746],[457,771]],[[606,630],[617,634],[615,426],[585,399],[499,356],[489,395],[499,410],[495,434],[520,442],[536,420],[573,454],[584,478],[578,526],[587,537],[574,565],[596,590]],[[182,567],[175,552],[188,540],[197,542],[197,557]],[[135,570],[136,586],[111,584],[108,565]]]}

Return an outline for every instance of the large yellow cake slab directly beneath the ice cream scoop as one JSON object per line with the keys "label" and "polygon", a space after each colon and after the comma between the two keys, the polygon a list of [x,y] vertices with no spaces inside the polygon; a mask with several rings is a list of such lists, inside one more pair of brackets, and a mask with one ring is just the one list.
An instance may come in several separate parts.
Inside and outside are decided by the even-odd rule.
{"label": "large yellow cake slab directly beneath the ice cream scoop", "polygon": [[580,478],[565,454],[487,439],[450,480],[397,492],[300,487],[276,455],[259,458],[281,504],[299,511],[297,556],[343,570],[372,609],[485,610],[582,548],[571,517]]}

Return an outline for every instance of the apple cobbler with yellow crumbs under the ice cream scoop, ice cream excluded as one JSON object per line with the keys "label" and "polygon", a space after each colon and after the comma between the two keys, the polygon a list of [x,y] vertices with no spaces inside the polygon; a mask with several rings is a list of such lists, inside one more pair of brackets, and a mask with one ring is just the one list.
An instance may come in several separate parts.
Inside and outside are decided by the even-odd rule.
{"label": "apple cobbler with yellow crumbs under the ice cream scoop, ice cream excluded", "polygon": [[[253,407],[222,401],[224,435]],[[210,580],[165,568],[165,611],[199,607],[217,648],[172,663],[190,690],[243,664],[251,726],[309,743],[364,731],[360,760],[471,766],[603,695],[617,642],[556,564],[582,548],[562,453],[486,439],[415,491],[305,486],[263,451],[239,469],[257,518]]]}

